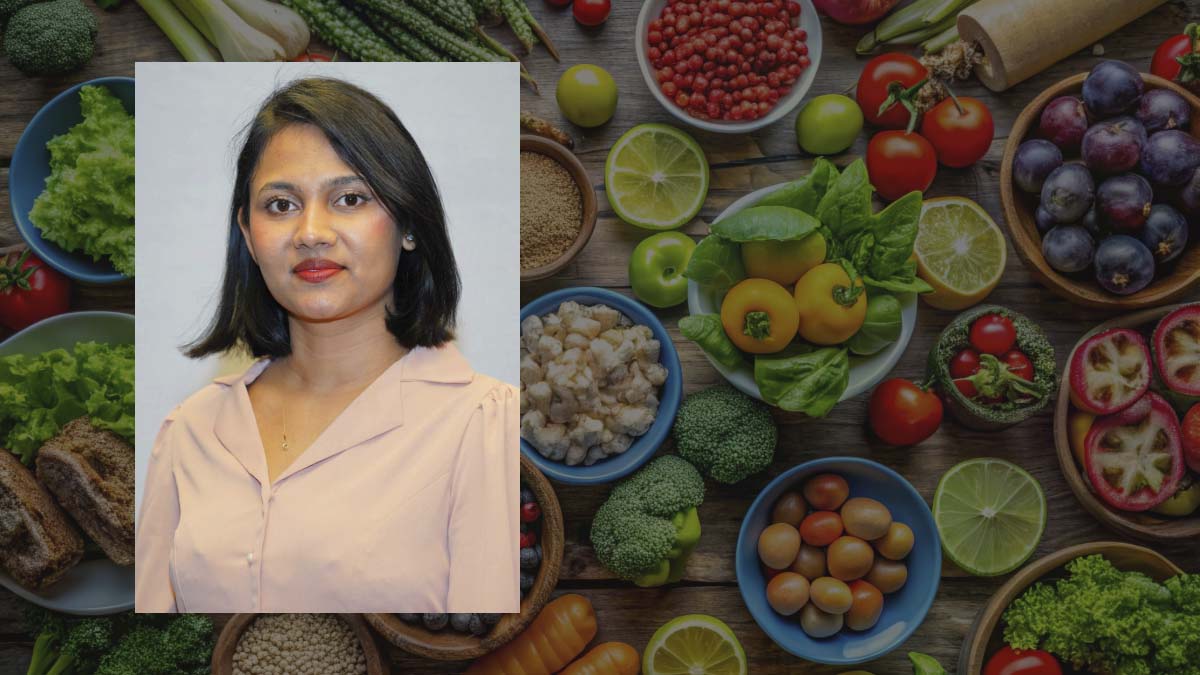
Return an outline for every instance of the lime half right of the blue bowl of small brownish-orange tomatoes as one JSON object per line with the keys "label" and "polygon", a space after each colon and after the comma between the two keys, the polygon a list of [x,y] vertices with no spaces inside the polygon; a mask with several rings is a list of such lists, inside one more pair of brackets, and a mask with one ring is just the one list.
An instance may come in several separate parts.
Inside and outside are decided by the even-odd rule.
{"label": "lime half right of the blue bowl of small brownish-orange tomatoes", "polygon": [[1046,526],[1046,497],[1024,468],[972,459],[946,472],[934,495],[934,521],[946,555],[977,577],[1020,567]]}

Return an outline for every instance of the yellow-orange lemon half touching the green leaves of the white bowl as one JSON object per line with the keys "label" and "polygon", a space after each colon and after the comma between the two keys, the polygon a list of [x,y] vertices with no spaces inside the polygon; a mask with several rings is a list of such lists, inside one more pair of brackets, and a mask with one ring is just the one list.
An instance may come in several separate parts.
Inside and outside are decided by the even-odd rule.
{"label": "yellow-orange lemon half touching the green leaves of the white bowl", "polygon": [[965,197],[925,202],[913,252],[918,274],[934,287],[922,298],[940,310],[964,310],[986,298],[1008,259],[996,222]]}

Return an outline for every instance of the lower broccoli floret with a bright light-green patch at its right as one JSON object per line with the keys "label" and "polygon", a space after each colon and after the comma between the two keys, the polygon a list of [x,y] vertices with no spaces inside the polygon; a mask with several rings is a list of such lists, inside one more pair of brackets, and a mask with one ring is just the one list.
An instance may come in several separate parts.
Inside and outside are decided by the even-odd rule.
{"label": "lower broccoli floret with a bright light-green patch at its right", "polygon": [[683,578],[700,540],[704,478],[674,455],[655,459],[613,488],[592,520],[592,545],[600,563],[638,586]]}

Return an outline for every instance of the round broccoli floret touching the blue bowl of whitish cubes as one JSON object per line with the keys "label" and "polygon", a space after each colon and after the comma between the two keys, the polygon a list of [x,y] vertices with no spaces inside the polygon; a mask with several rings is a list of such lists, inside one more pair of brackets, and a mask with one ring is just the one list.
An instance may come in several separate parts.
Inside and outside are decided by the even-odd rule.
{"label": "round broccoli floret touching the blue bowl of whitish cubes", "polygon": [[679,456],[721,483],[758,473],[775,458],[778,431],[770,411],[728,386],[684,399],[671,434]]}

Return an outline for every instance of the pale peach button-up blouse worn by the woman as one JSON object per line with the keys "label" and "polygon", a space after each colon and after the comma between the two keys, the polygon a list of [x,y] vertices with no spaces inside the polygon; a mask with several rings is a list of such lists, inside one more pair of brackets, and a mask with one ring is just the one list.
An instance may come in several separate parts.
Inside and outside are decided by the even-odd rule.
{"label": "pale peach button-up blouse worn by the woman", "polygon": [[272,484],[246,389],[268,363],[163,422],[137,611],[520,611],[516,387],[412,350]]}

